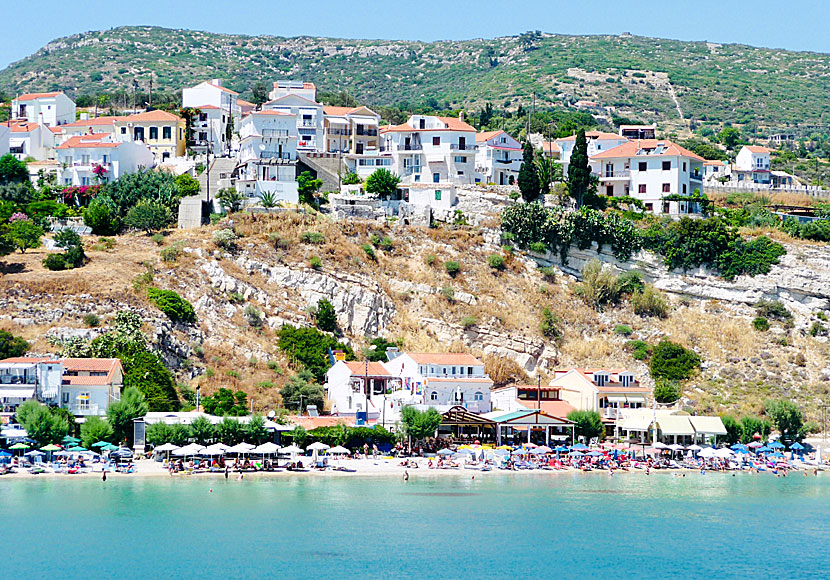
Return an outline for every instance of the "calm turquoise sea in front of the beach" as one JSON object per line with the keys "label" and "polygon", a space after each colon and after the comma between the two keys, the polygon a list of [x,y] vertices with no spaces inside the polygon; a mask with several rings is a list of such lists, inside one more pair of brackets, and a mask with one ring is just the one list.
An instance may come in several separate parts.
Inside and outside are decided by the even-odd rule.
{"label": "calm turquoise sea in front of the beach", "polygon": [[1,480],[0,515],[3,578],[830,578],[830,474]]}

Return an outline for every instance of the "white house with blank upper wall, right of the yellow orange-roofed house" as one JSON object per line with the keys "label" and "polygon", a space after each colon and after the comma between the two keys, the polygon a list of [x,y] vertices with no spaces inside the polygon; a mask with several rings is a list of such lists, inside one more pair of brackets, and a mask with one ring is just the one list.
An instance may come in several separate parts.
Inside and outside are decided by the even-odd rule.
{"label": "white house with blank upper wall, right of the yellow orange-roofed house", "polygon": [[221,79],[204,81],[182,89],[182,106],[199,109],[191,124],[193,141],[210,145],[214,155],[230,155],[233,133],[242,120],[239,93],[224,86]]}

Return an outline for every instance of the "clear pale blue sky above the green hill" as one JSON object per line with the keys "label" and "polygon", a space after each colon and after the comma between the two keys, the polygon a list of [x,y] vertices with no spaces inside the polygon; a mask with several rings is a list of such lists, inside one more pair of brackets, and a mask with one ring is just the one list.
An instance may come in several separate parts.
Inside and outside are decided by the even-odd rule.
{"label": "clear pale blue sky above the green hill", "polygon": [[[709,40],[830,53],[828,0],[29,0],[7,22],[0,68],[56,38],[125,25],[234,34],[462,40],[528,30]],[[46,15],[51,15],[46,17]]]}

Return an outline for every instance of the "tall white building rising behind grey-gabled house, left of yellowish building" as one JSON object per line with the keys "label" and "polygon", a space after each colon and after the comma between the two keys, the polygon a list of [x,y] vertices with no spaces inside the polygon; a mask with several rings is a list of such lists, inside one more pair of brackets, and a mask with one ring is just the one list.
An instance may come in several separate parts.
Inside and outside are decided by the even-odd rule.
{"label": "tall white building rising behind grey-gabled house, left of yellowish building", "polygon": [[316,101],[314,83],[277,81],[270,96],[271,100],[262,105],[263,111],[295,115],[297,150],[325,151],[323,105]]}

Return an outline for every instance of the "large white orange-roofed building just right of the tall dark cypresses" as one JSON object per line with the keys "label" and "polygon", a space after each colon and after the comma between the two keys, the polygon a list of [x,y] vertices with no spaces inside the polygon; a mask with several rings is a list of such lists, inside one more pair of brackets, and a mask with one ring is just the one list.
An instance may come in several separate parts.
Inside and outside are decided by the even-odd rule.
{"label": "large white orange-roofed building just right of the tall dark cypresses", "polygon": [[704,159],[671,141],[642,139],[590,157],[599,175],[599,193],[639,199],[646,211],[659,214],[694,213],[699,204],[664,197],[703,191]]}

